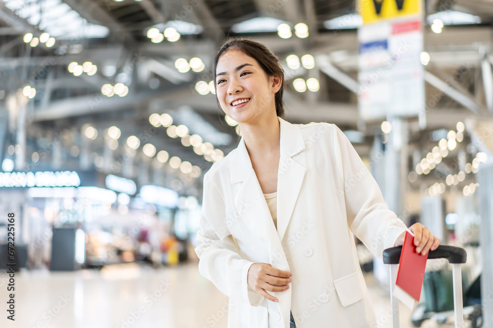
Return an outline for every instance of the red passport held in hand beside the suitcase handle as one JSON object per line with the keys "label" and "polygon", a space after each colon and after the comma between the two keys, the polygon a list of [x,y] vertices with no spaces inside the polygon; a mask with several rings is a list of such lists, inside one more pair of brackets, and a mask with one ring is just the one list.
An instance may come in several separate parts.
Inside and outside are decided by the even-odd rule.
{"label": "red passport held in hand beside the suitcase handle", "polygon": [[420,300],[421,296],[428,254],[429,252],[426,255],[416,253],[414,236],[406,231],[395,284],[417,301]]}

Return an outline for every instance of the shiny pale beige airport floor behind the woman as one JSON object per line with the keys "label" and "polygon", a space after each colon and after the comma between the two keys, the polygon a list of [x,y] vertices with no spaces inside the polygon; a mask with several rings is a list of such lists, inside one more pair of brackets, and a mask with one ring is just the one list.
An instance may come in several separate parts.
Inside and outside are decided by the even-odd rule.
{"label": "shiny pale beige airport floor behind the woman", "polygon": [[[6,274],[1,273],[1,304],[7,300],[7,284]],[[367,285],[377,318],[385,317],[388,297],[373,275],[367,276]],[[221,308],[227,304],[228,298],[199,274],[196,263],[161,269],[21,271],[15,277],[16,321],[6,320],[2,305],[0,327],[226,328]],[[410,311],[402,305],[401,311],[401,327],[412,327]],[[382,324],[390,327],[385,319]],[[425,322],[422,327],[438,325]]]}

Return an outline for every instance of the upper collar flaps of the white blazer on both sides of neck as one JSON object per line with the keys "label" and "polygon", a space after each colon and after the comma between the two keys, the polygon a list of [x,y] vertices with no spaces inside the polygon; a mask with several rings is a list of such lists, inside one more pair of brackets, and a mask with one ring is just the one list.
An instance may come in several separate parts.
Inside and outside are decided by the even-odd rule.
{"label": "upper collar flaps of the white blazer on both sides of neck", "polygon": [[[279,116],[278,120],[281,128],[281,154],[292,157],[300,151],[305,150],[305,142],[303,141],[300,128],[281,119]],[[246,150],[245,140],[242,137],[231,162],[231,183],[245,181],[251,170],[253,170],[253,167],[248,151]]]}

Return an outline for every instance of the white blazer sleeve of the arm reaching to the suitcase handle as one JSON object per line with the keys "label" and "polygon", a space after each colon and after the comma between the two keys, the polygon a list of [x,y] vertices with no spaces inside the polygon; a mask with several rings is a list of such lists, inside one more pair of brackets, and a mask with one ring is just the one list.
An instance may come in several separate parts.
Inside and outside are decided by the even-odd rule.
{"label": "white blazer sleeve of the arm reaching to the suitcase handle", "polygon": [[[370,171],[352,147],[348,137],[335,127],[336,153],[344,183],[344,199],[348,226],[378,258],[384,249],[393,247],[407,229],[395,213],[385,205],[382,192]],[[338,149],[338,150],[337,150]]]}

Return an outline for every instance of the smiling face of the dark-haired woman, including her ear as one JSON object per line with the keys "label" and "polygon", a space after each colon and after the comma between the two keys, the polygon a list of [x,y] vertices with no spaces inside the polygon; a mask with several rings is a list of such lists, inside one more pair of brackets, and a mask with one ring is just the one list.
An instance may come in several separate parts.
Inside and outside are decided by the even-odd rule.
{"label": "smiling face of the dark-haired woman, including her ear", "polygon": [[216,72],[217,99],[230,118],[240,123],[276,115],[281,79],[267,76],[255,59],[229,50],[217,61]]}

